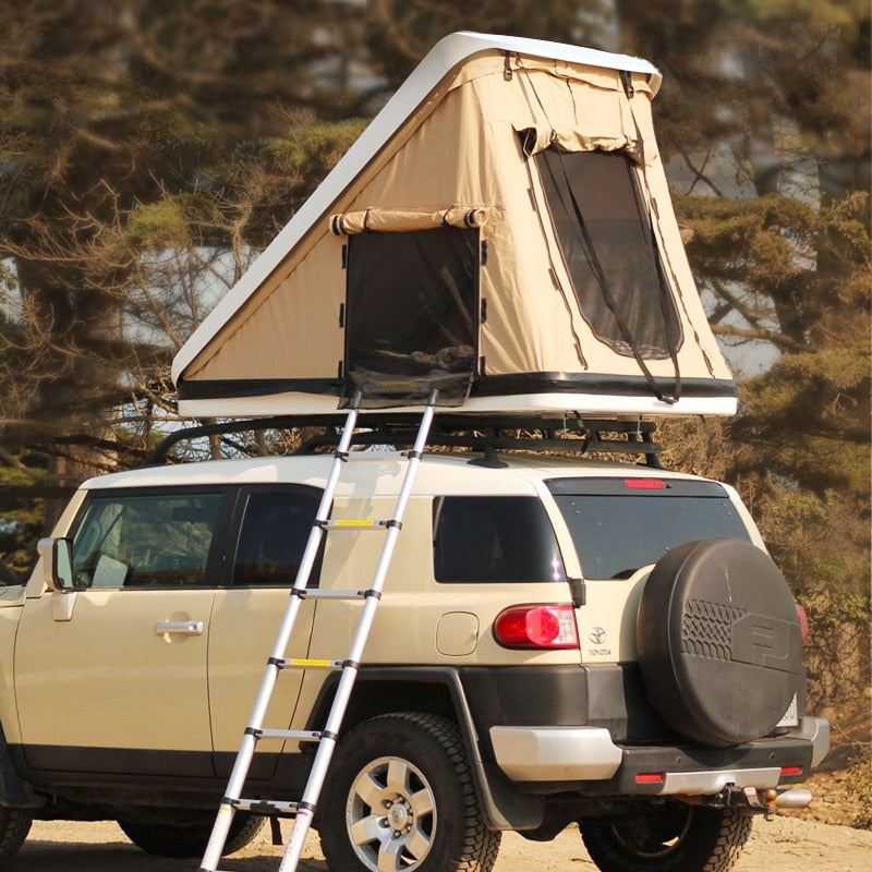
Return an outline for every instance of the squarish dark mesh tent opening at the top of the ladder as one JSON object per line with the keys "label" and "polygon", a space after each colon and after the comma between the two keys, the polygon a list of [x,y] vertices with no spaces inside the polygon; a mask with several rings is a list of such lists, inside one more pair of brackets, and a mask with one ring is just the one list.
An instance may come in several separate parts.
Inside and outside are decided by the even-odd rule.
{"label": "squarish dark mesh tent opening at the top of the ladder", "polygon": [[463,402],[479,335],[477,228],[348,240],[346,375],[364,403]]}

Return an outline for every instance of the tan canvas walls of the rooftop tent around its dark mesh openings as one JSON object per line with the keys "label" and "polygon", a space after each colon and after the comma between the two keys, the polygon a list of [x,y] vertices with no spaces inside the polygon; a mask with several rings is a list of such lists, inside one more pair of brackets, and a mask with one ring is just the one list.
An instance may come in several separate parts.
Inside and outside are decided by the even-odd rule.
{"label": "tan canvas walls of the rooftop tent around its dark mesh openings", "polygon": [[[531,396],[520,401],[523,388],[512,388],[506,409],[556,402],[597,414],[731,412],[731,376],[705,319],[656,146],[651,101],[657,84],[640,72],[502,51],[477,53],[449,71],[175,373],[182,411],[335,408],[347,366],[344,234],[428,233],[448,225],[480,228],[486,240],[477,276],[480,363],[464,408],[500,411],[498,396],[479,398],[488,384],[517,378],[523,385],[536,376],[567,396],[555,400],[532,378]],[[677,404],[653,400],[639,361],[604,342],[579,306],[533,157],[554,146],[623,153],[635,161],[681,332],[674,360],[644,366],[655,380],[671,383],[678,374],[690,386]],[[573,379],[580,385],[574,398],[567,387]],[[537,405],[540,390],[547,396]]]}

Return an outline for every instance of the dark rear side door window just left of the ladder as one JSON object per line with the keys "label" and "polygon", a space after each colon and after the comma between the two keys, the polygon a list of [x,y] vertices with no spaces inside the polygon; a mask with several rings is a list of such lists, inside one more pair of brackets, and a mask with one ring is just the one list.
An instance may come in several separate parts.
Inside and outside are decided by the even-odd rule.
{"label": "dark rear side door window just left of the ladder", "polygon": [[[245,502],[234,584],[293,584],[318,509],[318,496],[293,492],[252,493]],[[308,586],[315,586],[318,566]]]}

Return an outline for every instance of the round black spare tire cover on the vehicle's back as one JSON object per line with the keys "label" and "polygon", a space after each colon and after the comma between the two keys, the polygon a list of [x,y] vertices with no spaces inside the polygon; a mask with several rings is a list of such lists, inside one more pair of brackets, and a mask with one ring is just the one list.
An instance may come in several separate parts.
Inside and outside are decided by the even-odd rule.
{"label": "round black spare tire cover on the vehicle's back", "polygon": [[737,538],[687,542],[661,558],[642,591],[637,642],[661,717],[719,748],[771,732],[803,675],[787,582]]}

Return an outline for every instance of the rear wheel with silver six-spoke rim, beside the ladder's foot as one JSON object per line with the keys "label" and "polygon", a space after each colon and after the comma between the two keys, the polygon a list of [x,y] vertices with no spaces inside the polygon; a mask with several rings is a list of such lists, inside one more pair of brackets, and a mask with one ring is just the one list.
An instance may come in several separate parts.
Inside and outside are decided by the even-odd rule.
{"label": "rear wheel with silver six-spoke rim, beside the ladder's foot", "polygon": [[489,872],[500,833],[484,823],[457,726],[374,717],[339,743],[315,826],[342,872]]}

